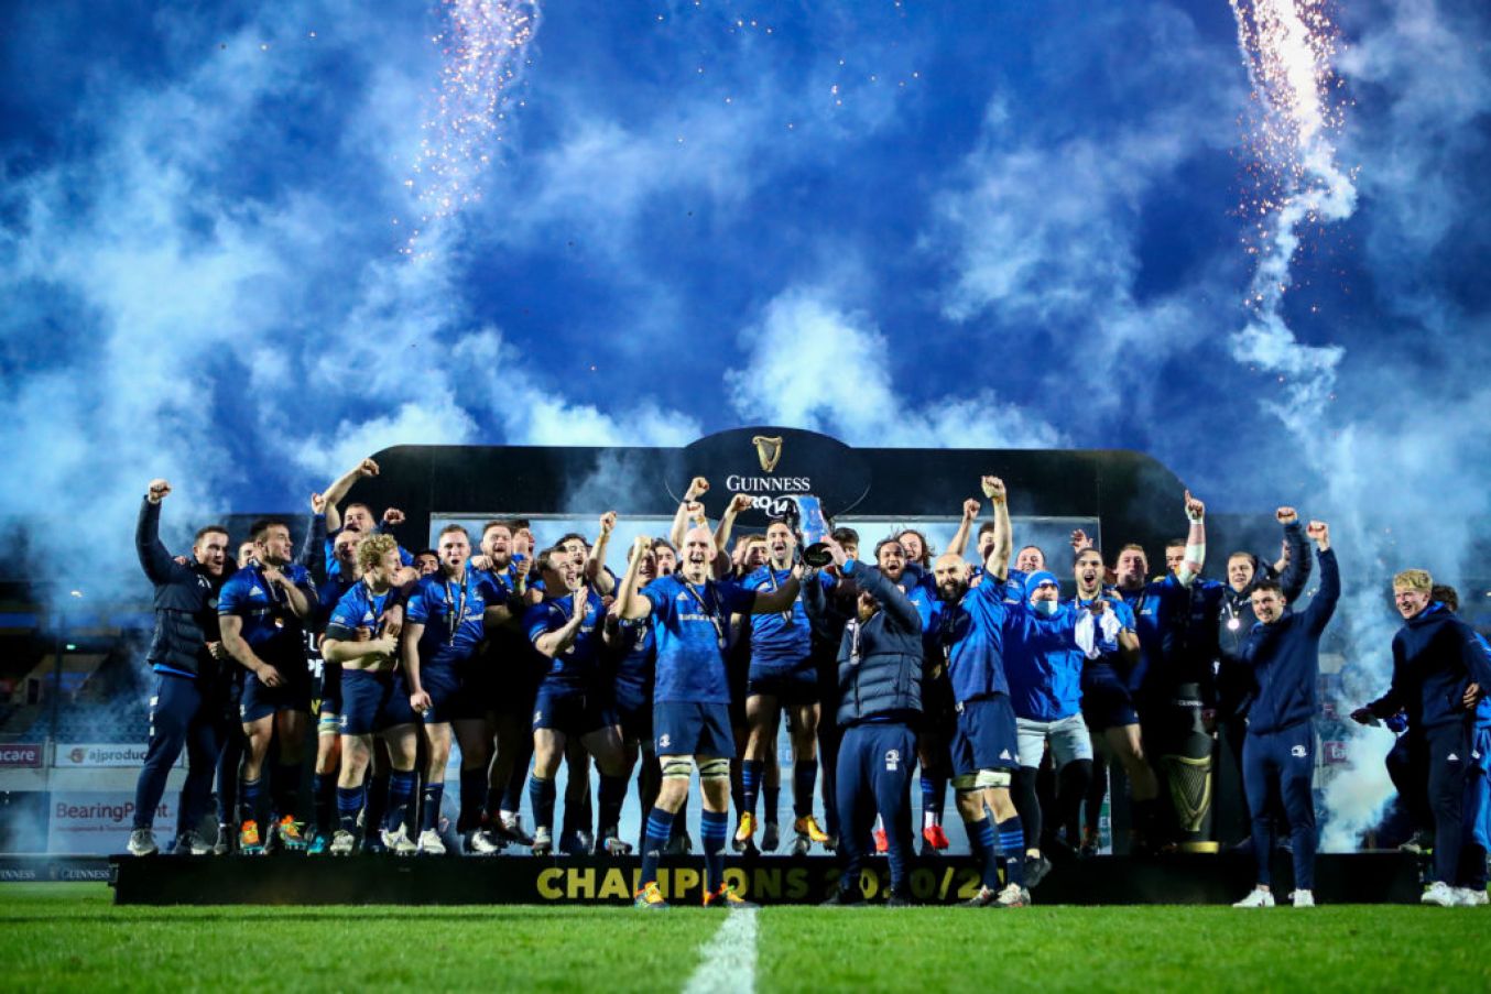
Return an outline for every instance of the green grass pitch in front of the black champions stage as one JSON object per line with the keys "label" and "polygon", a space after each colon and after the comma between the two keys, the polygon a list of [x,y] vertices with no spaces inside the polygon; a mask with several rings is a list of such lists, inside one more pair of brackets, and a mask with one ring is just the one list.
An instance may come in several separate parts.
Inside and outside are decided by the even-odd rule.
{"label": "green grass pitch in front of the black champions stage", "polygon": [[[4,884],[0,990],[677,991],[723,918],[115,908],[101,884]],[[757,924],[760,991],[1491,990],[1481,908],[766,908]]]}

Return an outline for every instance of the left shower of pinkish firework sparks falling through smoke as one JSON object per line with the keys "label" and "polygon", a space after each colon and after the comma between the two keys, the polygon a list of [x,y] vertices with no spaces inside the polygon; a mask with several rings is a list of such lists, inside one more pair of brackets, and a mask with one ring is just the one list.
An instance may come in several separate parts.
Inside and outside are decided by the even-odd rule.
{"label": "left shower of pinkish firework sparks falling through smoke", "polygon": [[[538,33],[538,0],[443,0],[441,30],[431,37],[443,66],[432,116],[423,124],[419,159],[406,186],[419,222],[401,252],[414,255],[432,224],[482,198],[482,174],[504,139],[514,91]],[[397,222],[395,222],[397,224]]]}

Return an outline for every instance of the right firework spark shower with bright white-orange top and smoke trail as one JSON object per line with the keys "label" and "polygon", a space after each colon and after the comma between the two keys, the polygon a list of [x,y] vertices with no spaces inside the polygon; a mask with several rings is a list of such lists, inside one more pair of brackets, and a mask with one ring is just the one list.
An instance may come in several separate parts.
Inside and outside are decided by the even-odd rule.
{"label": "right firework spark shower with bright white-orange top and smoke trail", "polygon": [[1328,402],[1342,355],[1302,344],[1281,313],[1305,227],[1349,218],[1357,203],[1352,176],[1336,164],[1346,106],[1333,66],[1337,33],[1324,0],[1230,1],[1255,107],[1243,213],[1258,258],[1246,298],[1252,317],[1232,352],[1284,377],[1285,402],[1270,410],[1297,428]]}

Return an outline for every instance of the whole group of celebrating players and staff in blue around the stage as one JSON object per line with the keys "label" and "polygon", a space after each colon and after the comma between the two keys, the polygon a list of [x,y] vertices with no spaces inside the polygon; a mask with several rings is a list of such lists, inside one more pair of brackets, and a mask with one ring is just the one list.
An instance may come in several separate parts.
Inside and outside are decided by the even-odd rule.
{"label": "whole group of celebrating players and staff in blue around the stage", "polygon": [[[599,519],[593,542],[568,534],[538,548],[525,522],[495,520],[476,548],[449,525],[435,548],[410,554],[391,534],[400,511],[377,520],[364,504],[340,507],[376,474],[368,459],[313,495],[298,554],[289,525],[267,519],[236,562],[221,526],[200,529],[191,556],[171,557],[158,538],[170,484],[149,484],[137,547],[155,584],[158,687],[130,852],[157,851],[151,817],[183,748],[176,851],[192,854],[625,855],[620,811],[635,781],[635,900],[662,908],[658,866],[692,846],[681,809],[698,770],[705,905],[738,906],[726,851],[781,845],[775,742],[786,715],[790,848],[838,851],[844,873],[830,903],[860,899],[859,872],[877,849],[889,861],[887,902],[910,903],[910,785],[920,769],[923,852],[948,846],[951,785],[983,864],[972,903],[1017,908],[1050,870],[1048,852],[1091,851],[1108,763],[1126,773],[1136,849],[1193,838],[1209,808],[1220,729],[1241,763],[1257,854],[1257,888],[1239,906],[1275,903],[1279,824],[1293,841],[1293,903],[1314,903],[1318,647],[1340,593],[1323,522],[1279,508],[1282,559],[1233,553],[1227,581],[1208,581],[1205,507],[1187,493],[1188,532],[1166,547],[1160,578],[1139,545],[1109,566],[1075,532],[1077,592],[1063,601],[1042,550],[1012,554],[996,477],[981,480],[992,520],[978,525],[981,504],[965,501],[941,556],[915,531],[866,550],[838,528],[820,542],[829,560],[820,568],[804,560],[790,522],[732,541],[748,496],[734,496],[710,528],[708,483],[698,478],[671,535],[638,538],[616,577],[604,565],[614,513]],[[971,541],[974,562],[963,557]],[[1318,589],[1296,611],[1312,559]],[[1434,832],[1424,900],[1484,903],[1476,826],[1491,708],[1478,690],[1491,687],[1491,653],[1433,590],[1422,571],[1394,578],[1405,627],[1393,683],[1352,717],[1408,729],[1394,769]],[[298,794],[312,720],[306,824]],[[443,817],[452,742],[453,824]],[[198,826],[215,778],[212,839]],[[517,814],[525,788],[531,835]]]}

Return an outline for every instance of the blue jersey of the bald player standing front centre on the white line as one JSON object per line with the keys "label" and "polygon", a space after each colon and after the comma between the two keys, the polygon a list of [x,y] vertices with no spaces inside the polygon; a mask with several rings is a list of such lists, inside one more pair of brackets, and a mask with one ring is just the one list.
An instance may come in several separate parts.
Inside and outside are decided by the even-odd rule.
{"label": "blue jersey of the bald player standing front centre on the white line", "polygon": [[652,602],[658,639],[653,700],[729,703],[725,641],[732,614],[750,614],[756,593],[741,584],[684,584],[678,574],[649,583],[641,596]]}

